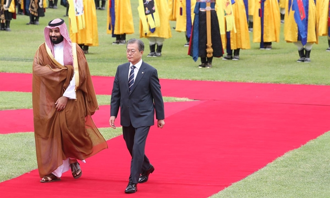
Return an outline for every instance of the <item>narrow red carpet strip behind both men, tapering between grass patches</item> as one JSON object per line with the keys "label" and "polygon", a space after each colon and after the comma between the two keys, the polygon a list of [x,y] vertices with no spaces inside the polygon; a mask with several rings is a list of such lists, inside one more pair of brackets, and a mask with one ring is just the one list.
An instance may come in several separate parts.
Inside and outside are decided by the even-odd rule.
{"label": "narrow red carpet strip behind both men, tapering between grass patches", "polygon": [[[201,102],[204,101],[165,102],[165,117],[176,114]],[[32,109],[0,111],[0,117],[0,134],[34,131]],[[99,111],[97,111],[95,115],[92,116],[92,118],[97,127],[110,127],[110,105],[100,106]],[[115,120],[115,125],[120,126],[119,116]]]}

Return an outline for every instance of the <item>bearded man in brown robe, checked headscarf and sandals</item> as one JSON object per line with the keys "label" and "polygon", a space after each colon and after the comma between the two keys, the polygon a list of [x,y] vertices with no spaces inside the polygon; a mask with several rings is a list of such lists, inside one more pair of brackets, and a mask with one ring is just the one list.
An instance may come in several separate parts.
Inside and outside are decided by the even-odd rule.
{"label": "bearded man in brown robe, checked headscarf and sandals", "polygon": [[50,21],[44,33],[33,61],[33,121],[40,182],[52,182],[70,168],[79,178],[77,160],[108,145],[91,117],[99,106],[82,49],[71,43],[63,19]]}

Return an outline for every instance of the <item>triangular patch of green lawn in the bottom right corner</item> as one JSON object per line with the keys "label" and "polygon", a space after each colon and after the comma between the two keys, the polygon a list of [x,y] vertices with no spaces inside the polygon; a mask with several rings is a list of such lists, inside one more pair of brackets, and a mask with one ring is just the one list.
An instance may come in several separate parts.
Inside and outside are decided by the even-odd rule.
{"label": "triangular patch of green lawn in the bottom right corner", "polygon": [[329,198],[329,141],[327,132],[211,198]]}

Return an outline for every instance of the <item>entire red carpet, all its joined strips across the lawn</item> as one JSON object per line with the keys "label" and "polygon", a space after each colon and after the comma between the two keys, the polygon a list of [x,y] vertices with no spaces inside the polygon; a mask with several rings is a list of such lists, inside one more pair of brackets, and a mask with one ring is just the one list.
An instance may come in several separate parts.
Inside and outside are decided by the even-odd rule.
{"label": "entire red carpet, all its joined strips across the lawn", "polygon": [[[0,91],[30,92],[31,77],[0,73]],[[97,94],[110,94],[113,78],[93,77],[93,82]],[[130,156],[119,136],[82,164],[82,178],[74,180],[67,172],[62,181],[45,184],[33,170],[1,182],[1,197],[206,198],[330,130],[330,86],[163,79],[161,84],[164,96],[203,101],[165,104],[165,128],[151,128],[146,148],[156,170],[138,184],[137,193],[124,194]],[[7,130],[33,126],[32,110],[0,111],[0,116],[25,123],[12,121]],[[93,119],[108,127],[109,106]]]}

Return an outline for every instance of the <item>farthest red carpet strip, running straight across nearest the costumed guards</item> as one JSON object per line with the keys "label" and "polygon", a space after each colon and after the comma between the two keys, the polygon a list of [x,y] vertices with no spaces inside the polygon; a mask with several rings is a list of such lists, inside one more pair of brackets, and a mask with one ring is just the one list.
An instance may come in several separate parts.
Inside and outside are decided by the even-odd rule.
{"label": "farthest red carpet strip, running straight across nearest the costumed guards", "polygon": [[[17,79],[16,84],[11,80]],[[93,76],[95,91],[111,95],[113,77]],[[330,105],[330,86],[161,79],[163,96],[197,100]],[[0,73],[0,91],[32,91],[32,74]]]}

